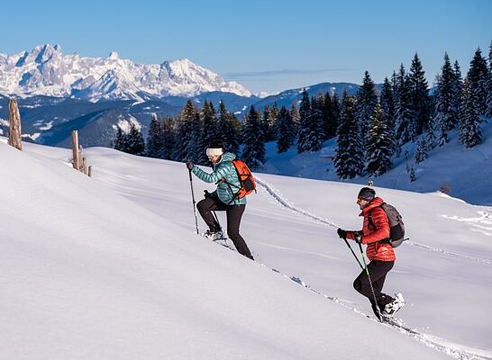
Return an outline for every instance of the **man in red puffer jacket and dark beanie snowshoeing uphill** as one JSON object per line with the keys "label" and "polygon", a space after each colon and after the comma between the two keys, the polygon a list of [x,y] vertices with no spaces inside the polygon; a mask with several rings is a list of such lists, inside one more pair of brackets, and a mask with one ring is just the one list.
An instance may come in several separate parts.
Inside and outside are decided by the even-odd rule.
{"label": "man in red puffer jacket and dark beanie snowshoeing uphill", "polygon": [[360,231],[337,230],[340,238],[348,238],[368,246],[366,254],[370,260],[368,264],[370,282],[366,270],[363,269],[354,280],[353,287],[369,299],[372,311],[378,319],[380,315],[392,316],[405,304],[401,293],[396,294],[396,299],[382,293],[386,275],[395,265],[396,259],[393,247],[385,241],[389,238],[389,223],[386,212],[381,208],[383,203],[383,199],[376,197],[373,189],[363,187],[357,196],[357,204],[362,211],[360,216],[364,217],[362,229]]}

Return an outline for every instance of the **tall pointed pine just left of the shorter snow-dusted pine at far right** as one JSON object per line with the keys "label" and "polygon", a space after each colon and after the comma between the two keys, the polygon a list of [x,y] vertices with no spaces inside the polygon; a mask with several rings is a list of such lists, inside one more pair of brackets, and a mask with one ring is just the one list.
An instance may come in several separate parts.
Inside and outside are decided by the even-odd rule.
{"label": "tall pointed pine just left of the shorter snow-dusted pine at far right", "polygon": [[436,103],[433,123],[439,130],[439,145],[449,141],[448,133],[454,129],[458,121],[458,109],[453,103],[455,93],[455,75],[447,53],[444,54],[444,65],[441,75],[437,77]]}

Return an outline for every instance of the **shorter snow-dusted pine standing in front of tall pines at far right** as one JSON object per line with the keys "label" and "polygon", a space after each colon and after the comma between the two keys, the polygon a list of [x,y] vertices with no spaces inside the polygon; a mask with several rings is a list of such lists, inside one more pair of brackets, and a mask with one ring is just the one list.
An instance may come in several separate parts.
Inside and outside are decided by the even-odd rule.
{"label": "shorter snow-dusted pine standing in front of tall pines at far right", "polygon": [[463,85],[459,128],[460,142],[465,148],[473,148],[482,141],[478,115],[478,88],[472,87],[467,75]]}

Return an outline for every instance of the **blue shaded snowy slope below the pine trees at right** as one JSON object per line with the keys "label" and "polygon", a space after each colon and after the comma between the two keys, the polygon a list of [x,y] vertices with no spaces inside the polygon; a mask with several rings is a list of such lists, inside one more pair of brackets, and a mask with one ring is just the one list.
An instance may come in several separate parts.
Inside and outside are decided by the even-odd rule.
{"label": "blue shaded snowy slope below the pine trees at right", "polygon": [[[415,164],[415,143],[402,148],[401,157],[386,174],[372,178],[374,184],[393,189],[419,193],[433,193],[447,189],[453,196],[466,202],[492,205],[492,119],[481,124],[484,141],[475,148],[463,148],[456,130],[451,131],[450,143],[434,148],[429,158]],[[261,171],[269,174],[299,176],[313,179],[341,181],[333,166],[336,139],[323,144],[321,151],[297,154],[292,147],[283,154],[277,153],[277,143],[267,144],[267,162]],[[405,161],[405,150],[409,160]],[[416,181],[411,182],[406,165],[414,166]],[[368,184],[368,176],[347,180],[354,184]]]}

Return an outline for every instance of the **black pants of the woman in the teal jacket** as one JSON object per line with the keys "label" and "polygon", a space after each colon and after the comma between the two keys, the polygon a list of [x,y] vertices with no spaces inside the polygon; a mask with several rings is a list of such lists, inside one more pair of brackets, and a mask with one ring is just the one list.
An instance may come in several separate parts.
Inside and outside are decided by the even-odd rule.
{"label": "black pants of the woman in the teal jacket", "polygon": [[246,209],[246,205],[227,205],[216,197],[208,197],[198,202],[196,207],[198,208],[198,211],[200,211],[200,215],[202,215],[202,218],[204,218],[205,223],[212,232],[217,232],[220,230],[220,225],[214,219],[214,214],[212,211],[225,211],[227,216],[227,236],[231,238],[234,243],[234,247],[238,250],[238,253],[253,260],[250,248],[246,245],[244,238],[242,238],[239,233],[241,217],[242,213]]}

